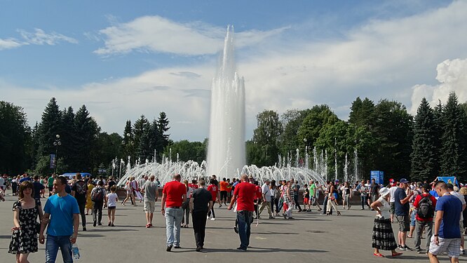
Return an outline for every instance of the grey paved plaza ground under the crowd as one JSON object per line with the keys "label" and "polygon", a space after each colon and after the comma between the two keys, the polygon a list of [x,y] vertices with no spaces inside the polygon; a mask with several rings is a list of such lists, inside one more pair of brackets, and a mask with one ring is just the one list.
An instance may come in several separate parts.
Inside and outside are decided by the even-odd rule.
{"label": "grey paved plaza ground under the crowd", "polygon": [[[8,194],[0,203],[0,262],[15,262],[7,253],[13,226],[11,208],[16,196]],[[46,199],[42,199],[45,203]],[[295,220],[260,219],[252,224],[251,248],[246,252],[236,250],[240,241],[233,230],[235,213],[225,206],[217,208],[216,220],[208,220],[205,252],[195,252],[192,229],[182,229],[181,249],[165,251],[165,218],[160,212],[154,215],[154,227],[146,229],[142,203],[137,207],[119,204],[116,210],[116,227],[107,227],[107,210],[104,227],[93,227],[88,215],[88,231],[80,231],[77,244],[81,252],[79,262],[428,262],[427,255],[403,251],[398,258],[377,258],[372,255],[371,238],[374,212],[343,210],[341,216],[320,215],[316,211],[296,213]],[[156,204],[156,211],[161,208]],[[267,218],[266,210],[262,213]],[[397,225],[393,224],[393,229]],[[396,233],[397,234],[397,233]],[[413,239],[407,238],[413,248]],[[422,241],[424,244],[424,241]],[[384,255],[391,252],[381,251]],[[39,252],[29,256],[30,262],[44,262],[44,245]],[[440,257],[448,262],[447,256]],[[461,262],[467,257],[461,256]],[[62,262],[59,252],[57,262]]]}

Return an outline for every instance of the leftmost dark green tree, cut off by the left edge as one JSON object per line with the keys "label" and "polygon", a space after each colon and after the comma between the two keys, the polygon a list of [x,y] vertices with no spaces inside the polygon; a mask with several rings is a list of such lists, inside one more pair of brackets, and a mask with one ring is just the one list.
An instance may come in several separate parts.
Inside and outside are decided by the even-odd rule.
{"label": "leftmost dark green tree, cut off by the left edge", "polygon": [[22,107],[0,101],[0,170],[4,173],[18,174],[29,167],[30,133]]}

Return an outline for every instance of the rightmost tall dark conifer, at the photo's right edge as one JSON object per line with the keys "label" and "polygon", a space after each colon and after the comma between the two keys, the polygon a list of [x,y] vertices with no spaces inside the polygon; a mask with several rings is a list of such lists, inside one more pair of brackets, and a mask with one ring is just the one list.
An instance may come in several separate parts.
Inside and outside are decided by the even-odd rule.
{"label": "rightmost tall dark conifer, at the photo's right edge", "polygon": [[466,117],[459,105],[456,93],[449,93],[443,110],[442,175],[456,175],[463,181],[466,177]]}

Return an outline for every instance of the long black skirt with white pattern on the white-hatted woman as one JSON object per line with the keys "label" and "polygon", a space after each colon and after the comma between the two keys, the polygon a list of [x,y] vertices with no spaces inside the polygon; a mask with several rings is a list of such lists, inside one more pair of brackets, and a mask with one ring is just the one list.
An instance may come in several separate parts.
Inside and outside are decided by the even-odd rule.
{"label": "long black skirt with white pattern on the white-hatted woman", "polygon": [[391,220],[376,217],[374,219],[372,248],[394,250],[397,247],[398,244],[395,243]]}

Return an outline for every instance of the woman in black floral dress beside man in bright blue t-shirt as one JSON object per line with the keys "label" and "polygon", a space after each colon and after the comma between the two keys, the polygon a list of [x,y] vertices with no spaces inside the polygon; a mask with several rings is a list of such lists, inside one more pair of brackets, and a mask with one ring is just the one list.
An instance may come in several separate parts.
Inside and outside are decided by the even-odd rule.
{"label": "woman in black floral dress beside man in bright blue t-shirt", "polygon": [[37,252],[37,215],[42,218],[41,203],[32,196],[34,185],[30,181],[20,184],[20,200],[13,203],[13,224],[8,253],[16,255],[16,262],[29,262],[29,253]]}

